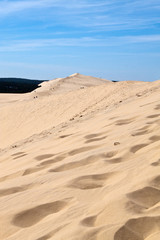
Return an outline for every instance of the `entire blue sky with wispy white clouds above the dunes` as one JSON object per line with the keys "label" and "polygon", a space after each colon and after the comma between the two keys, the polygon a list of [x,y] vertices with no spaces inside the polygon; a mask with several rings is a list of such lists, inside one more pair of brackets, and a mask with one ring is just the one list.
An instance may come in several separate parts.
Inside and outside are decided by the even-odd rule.
{"label": "entire blue sky with wispy white clouds above the dunes", "polygon": [[0,77],[160,79],[160,0],[0,0]]}

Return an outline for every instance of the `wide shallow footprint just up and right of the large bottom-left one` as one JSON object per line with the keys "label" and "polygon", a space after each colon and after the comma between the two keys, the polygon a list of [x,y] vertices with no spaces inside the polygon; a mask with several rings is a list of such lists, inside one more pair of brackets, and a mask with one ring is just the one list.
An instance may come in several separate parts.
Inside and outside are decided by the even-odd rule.
{"label": "wide shallow footprint just up and right of the large bottom-left one", "polygon": [[117,174],[117,172],[110,172],[81,176],[73,179],[67,186],[70,188],[78,188],[82,190],[101,188],[107,182],[109,183],[110,180],[113,180],[113,178],[117,176]]}

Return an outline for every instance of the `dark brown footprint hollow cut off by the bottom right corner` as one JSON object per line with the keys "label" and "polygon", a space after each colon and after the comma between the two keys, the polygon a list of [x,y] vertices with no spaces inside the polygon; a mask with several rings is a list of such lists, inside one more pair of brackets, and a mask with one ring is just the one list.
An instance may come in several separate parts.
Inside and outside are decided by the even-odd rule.
{"label": "dark brown footprint hollow cut off by the bottom right corner", "polygon": [[[160,231],[160,216],[128,220],[114,235],[114,240],[148,240]],[[160,234],[160,232],[158,233]],[[160,236],[160,235],[159,235]]]}

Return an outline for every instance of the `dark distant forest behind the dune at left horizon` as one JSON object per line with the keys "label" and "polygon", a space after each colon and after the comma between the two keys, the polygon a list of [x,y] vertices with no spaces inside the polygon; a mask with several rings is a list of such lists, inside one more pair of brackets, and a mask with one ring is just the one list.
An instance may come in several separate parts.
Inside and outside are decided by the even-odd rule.
{"label": "dark distant forest behind the dune at left horizon", "polygon": [[30,80],[24,78],[0,78],[0,93],[27,93],[38,88],[47,80]]}

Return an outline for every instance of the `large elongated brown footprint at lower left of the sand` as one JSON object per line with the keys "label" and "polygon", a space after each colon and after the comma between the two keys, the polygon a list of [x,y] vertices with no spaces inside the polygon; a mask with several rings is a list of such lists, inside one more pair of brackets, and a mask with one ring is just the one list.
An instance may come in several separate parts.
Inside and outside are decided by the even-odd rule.
{"label": "large elongated brown footprint at lower left of the sand", "polygon": [[69,201],[62,200],[38,205],[16,214],[12,219],[12,224],[21,228],[31,227],[48,215],[63,210],[68,204]]}

